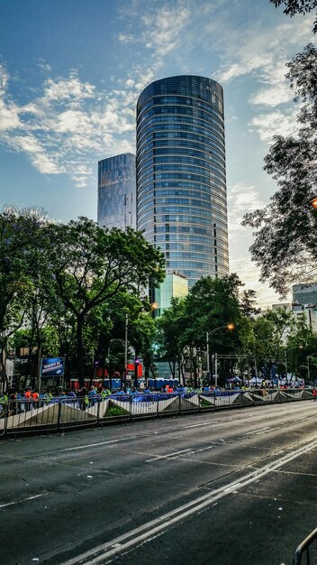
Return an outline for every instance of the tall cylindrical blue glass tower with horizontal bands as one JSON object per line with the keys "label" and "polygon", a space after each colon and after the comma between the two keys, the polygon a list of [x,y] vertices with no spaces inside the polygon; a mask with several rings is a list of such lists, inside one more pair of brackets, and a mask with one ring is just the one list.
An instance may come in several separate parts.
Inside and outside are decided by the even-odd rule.
{"label": "tall cylindrical blue glass tower with horizontal bands", "polygon": [[137,104],[138,230],[192,286],[229,273],[222,87],[156,80]]}

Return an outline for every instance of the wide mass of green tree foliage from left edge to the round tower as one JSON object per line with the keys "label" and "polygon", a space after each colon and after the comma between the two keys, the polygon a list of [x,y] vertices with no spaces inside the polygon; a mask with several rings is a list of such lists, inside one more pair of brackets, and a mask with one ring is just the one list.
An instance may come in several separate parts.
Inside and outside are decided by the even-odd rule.
{"label": "wide mass of green tree foliage from left edge to the round tower", "polygon": [[[149,280],[156,286],[164,279],[164,265],[163,254],[131,228],[104,230],[87,218],[56,224],[41,210],[5,208],[0,214],[1,350],[24,320],[20,343],[30,350],[29,372],[32,366],[37,375],[39,359],[32,351],[35,357],[59,355],[67,357],[68,373],[76,360],[83,384],[87,357],[92,366],[92,356],[105,356],[115,324],[121,323],[124,337],[125,313],[136,351],[149,349],[154,322],[145,292]],[[133,324],[139,324],[134,335]],[[15,338],[17,347],[18,334]]]}

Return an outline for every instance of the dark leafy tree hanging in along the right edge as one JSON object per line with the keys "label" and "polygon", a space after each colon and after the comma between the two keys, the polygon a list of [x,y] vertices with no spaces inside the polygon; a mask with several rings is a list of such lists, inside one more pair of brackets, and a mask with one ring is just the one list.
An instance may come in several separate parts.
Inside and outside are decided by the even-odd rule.
{"label": "dark leafy tree hanging in along the right edge", "polygon": [[317,268],[317,211],[310,202],[317,190],[317,50],[309,44],[287,64],[286,77],[301,102],[294,136],[276,135],[265,158],[265,171],[279,190],[265,208],[246,214],[253,229],[252,260],[260,280],[285,296],[292,282],[312,282]]}

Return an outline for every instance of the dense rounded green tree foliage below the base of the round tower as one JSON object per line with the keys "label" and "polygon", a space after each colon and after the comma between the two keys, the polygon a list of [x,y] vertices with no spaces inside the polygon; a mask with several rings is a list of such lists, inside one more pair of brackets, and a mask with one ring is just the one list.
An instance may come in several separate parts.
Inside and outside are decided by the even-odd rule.
{"label": "dense rounded green tree foliage below the base of the round tower", "polygon": [[[252,348],[252,323],[255,294],[244,291],[237,274],[197,281],[183,300],[174,300],[158,320],[159,355],[169,361],[171,373],[176,375],[185,357],[190,361],[197,384],[198,370],[206,366],[206,341],[209,334],[210,353],[235,354],[242,347]],[[230,331],[226,326],[234,323]],[[213,330],[216,330],[213,334]],[[222,364],[222,377],[231,371],[233,361]]]}

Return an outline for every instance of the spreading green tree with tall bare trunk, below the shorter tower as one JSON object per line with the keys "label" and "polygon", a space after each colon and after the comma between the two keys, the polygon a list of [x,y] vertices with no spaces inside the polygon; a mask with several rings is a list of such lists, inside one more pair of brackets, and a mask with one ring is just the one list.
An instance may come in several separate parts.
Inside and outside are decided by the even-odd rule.
{"label": "spreading green tree with tall bare trunk, below the shorter tower", "polygon": [[50,225],[50,272],[54,288],[76,325],[77,377],[84,384],[86,321],[92,310],[119,292],[140,296],[164,279],[164,255],[140,233],[99,227],[88,218]]}

